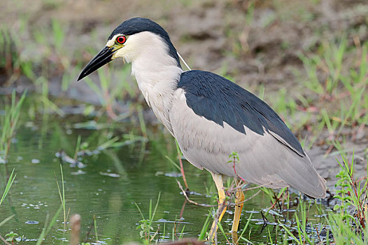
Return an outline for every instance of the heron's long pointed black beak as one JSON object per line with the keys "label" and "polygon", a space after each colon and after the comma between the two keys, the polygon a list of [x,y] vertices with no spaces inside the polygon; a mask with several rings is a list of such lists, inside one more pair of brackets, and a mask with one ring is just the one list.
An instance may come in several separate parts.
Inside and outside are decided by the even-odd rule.
{"label": "heron's long pointed black beak", "polygon": [[[94,56],[94,58],[88,62],[87,66],[85,66],[85,69],[80,73],[78,80],[84,78],[85,76],[90,75],[93,71],[96,71],[104,64],[107,64],[108,62],[111,62],[111,57],[113,57],[113,54],[116,50],[113,50],[113,48],[108,48],[105,46],[99,53]],[[77,81],[78,81],[77,80]]]}

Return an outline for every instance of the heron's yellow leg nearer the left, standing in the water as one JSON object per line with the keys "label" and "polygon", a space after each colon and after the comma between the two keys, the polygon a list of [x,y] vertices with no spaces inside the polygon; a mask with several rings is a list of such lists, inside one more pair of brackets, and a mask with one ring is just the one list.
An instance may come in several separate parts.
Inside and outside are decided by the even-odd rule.
{"label": "heron's yellow leg nearer the left, standing in the water", "polygon": [[213,181],[215,181],[215,185],[216,188],[218,190],[218,210],[222,210],[220,215],[217,217],[215,217],[215,220],[212,223],[211,226],[211,230],[210,230],[210,235],[208,235],[208,241],[213,241],[213,239],[215,238],[215,234],[217,232],[218,229],[218,222],[221,222],[222,216],[224,216],[225,211],[226,211],[226,206],[224,201],[225,201],[225,191],[224,191],[224,183],[222,181],[222,174],[214,174],[212,173],[212,178]]}

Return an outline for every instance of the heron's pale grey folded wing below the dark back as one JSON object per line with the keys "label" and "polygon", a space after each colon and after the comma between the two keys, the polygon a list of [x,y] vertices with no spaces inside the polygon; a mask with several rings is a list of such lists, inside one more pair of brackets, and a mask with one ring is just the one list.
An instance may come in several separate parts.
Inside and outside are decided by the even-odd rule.
{"label": "heron's pale grey folded wing below the dark back", "polygon": [[[192,165],[210,172],[236,176],[270,188],[292,186],[311,197],[325,197],[325,180],[319,176],[307,155],[301,156],[269,132],[263,135],[245,128],[198,116],[187,106],[185,91],[176,90],[169,113],[171,127],[183,155]],[[234,167],[229,155],[239,153]],[[236,174],[235,174],[236,171]]]}

